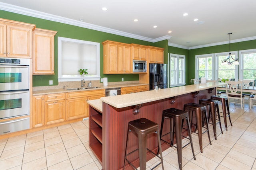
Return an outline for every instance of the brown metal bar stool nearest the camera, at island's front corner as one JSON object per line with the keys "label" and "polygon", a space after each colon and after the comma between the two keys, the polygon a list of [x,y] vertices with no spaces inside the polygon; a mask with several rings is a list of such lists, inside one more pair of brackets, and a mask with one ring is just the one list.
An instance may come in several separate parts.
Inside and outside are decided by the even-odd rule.
{"label": "brown metal bar stool nearest the camera, at island's front corner", "polygon": [[[127,154],[127,146],[128,146],[128,141],[129,141],[128,139],[129,139],[129,134],[131,131],[134,131],[134,133],[136,133],[138,135],[139,148],[136,150],[139,150],[140,170],[146,170],[147,150],[161,159],[161,162],[159,164],[157,164],[156,166],[154,166],[152,169],[154,169],[158,165],[162,164],[162,169],[164,170],[162,147],[161,147],[160,135],[159,135],[159,130],[158,130],[158,124],[153,121],[150,121],[146,118],[136,119],[136,120],[130,121],[128,123],[126,149],[125,149],[125,156],[124,156],[124,166],[125,166],[125,161],[127,161],[134,169],[137,170],[137,168],[126,158],[127,155],[136,151],[136,150],[134,150]],[[157,139],[158,139],[158,145],[159,145],[161,157],[159,157],[158,154],[155,154],[154,152],[152,152],[151,150],[149,150],[147,148],[147,135],[150,133],[157,133]]]}

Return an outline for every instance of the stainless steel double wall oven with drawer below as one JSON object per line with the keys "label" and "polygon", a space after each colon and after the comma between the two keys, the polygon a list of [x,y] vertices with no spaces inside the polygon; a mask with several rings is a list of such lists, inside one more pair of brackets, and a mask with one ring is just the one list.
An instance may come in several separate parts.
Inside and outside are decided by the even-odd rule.
{"label": "stainless steel double wall oven with drawer below", "polygon": [[[30,59],[0,58],[0,119],[29,115]],[[0,122],[0,134],[29,129],[29,117]]]}

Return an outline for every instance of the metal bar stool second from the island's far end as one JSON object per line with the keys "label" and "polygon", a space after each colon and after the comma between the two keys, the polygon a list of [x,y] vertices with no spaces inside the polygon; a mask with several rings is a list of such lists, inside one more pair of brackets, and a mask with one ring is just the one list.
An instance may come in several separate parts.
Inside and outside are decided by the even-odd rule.
{"label": "metal bar stool second from the island's far end", "polygon": [[[220,111],[219,111],[219,101],[218,100],[211,100],[211,99],[200,99],[199,104],[203,104],[206,107],[210,106],[209,109],[209,114],[208,114],[208,122],[210,120],[210,114],[212,115],[212,127],[213,127],[213,133],[214,133],[214,138],[217,140],[217,134],[216,134],[216,124],[220,123]],[[216,108],[216,109],[215,109]],[[216,122],[216,111],[218,115],[218,122]],[[220,123],[220,130],[221,133],[223,134],[221,123]]]}

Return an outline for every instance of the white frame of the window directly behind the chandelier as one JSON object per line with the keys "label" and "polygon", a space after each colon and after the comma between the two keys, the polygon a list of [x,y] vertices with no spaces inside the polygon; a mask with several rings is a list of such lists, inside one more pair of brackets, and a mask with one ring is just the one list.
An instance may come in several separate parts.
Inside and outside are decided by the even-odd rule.
{"label": "white frame of the window directly behind the chandelier", "polygon": [[[223,52],[223,53],[214,53],[214,80],[218,80],[218,57],[219,56],[226,56],[228,57],[229,52]],[[238,58],[238,51],[231,51],[231,55],[234,59]],[[239,61],[239,59],[238,59]],[[238,65],[235,65],[235,81],[238,81]]]}

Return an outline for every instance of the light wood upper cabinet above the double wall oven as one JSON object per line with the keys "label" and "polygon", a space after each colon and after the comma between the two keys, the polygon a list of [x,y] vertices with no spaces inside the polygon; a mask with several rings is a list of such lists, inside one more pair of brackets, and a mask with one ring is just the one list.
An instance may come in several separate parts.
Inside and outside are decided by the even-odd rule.
{"label": "light wood upper cabinet above the double wall oven", "polygon": [[32,58],[36,25],[0,19],[0,57]]}

